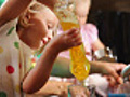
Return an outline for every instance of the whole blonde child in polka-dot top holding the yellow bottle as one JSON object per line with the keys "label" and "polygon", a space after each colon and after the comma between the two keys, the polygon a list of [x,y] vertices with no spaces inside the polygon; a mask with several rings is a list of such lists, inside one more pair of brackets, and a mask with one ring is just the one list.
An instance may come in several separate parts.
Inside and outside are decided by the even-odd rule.
{"label": "whole blonde child in polka-dot top holding the yellow bottle", "polygon": [[[81,44],[78,29],[73,28],[55,36],[46,45],[40,59],[36,63],[35,51],[44,45],[44,38],[50,39],[49,34],[55,29],[58,20],[44,5],[32,2],[28,6],[30,0],[9,0],[0,11],[0,96],[2,97],[23,97],[26,93],[32,94],[39,91],[46,84],[58,53]],[[20,14],[20,18],[15,19]],[[72,40],[74,37],[75,41]],[[34,64],[36,66],[31,69]]]}

